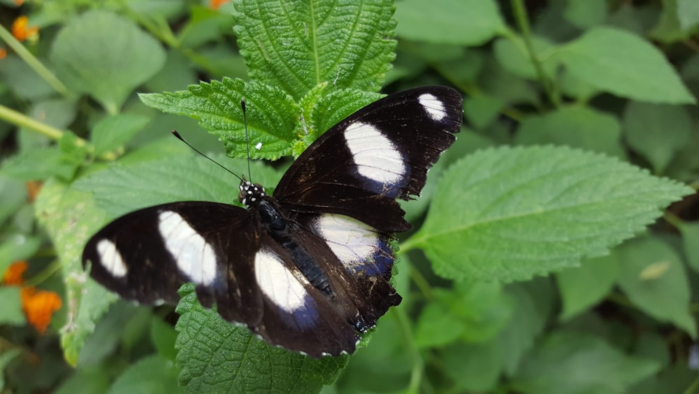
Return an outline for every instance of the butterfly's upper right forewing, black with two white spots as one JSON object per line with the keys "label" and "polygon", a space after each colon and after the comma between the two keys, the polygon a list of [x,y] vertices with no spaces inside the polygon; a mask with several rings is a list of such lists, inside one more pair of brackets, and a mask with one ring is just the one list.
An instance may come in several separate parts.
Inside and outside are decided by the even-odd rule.
{"label": "butterfly's upper right forewing, black with two white spots", "polygon": [[381,232],[410,229],[397,198],[425,185],[461,127],[461,94],[418,87],[375,101],[332,127],[291,164],[274,191],[284,209],[339,213]]}

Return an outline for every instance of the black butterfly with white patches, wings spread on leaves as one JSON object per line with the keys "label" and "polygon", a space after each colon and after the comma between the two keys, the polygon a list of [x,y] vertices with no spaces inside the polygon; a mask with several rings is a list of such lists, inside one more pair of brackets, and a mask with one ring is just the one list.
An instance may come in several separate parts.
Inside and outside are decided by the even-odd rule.
{"label": "black butterfly with white patches, wings spread on leaves", "polygon": [[352,353],[401,296],[389,284],[394,232],[410,229],[396,199],[419,195],[461,127],[459,92],[391,94],[338,123],[284,174],[273,196],[240,183],[247,209],[174,202],[117,218],[82,263],[129,300],[204,307],[266,342],[309,356]]}

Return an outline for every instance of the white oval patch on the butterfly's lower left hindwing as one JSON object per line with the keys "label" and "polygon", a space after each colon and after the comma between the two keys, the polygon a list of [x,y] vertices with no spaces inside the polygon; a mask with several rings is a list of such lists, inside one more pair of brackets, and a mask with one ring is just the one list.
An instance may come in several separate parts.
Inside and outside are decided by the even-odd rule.
{"label": "white oval patch on the butterfly's lower left hindwing", "polygon": [[289,314],[304,309],[308,292],[278,255],[261,249],[255,255],[254,269],[257,285],[271,302]]}

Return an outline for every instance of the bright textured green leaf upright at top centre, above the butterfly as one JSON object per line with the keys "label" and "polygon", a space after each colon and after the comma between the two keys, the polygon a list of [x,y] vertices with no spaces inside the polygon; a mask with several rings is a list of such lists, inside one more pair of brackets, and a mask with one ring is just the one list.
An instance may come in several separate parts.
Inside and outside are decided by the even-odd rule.
{"label": "bright textured green leaf upright at top centre, above the butterfly", "polygon": [[252,80],[296,100],[320,83],[375,92],[394,59],[393,1],[238,0],[233,14]]}

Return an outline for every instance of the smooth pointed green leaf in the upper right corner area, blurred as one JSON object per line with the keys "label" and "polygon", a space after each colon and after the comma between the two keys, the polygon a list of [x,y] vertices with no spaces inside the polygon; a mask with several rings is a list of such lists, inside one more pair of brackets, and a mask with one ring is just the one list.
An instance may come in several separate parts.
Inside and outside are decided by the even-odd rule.
{"label": "smooth pointed green leaf in the upper right corner area, blurred", "polygon": [[626,31],[594,27],[563,45],[557,56],[577,78],[619,97],[653,103],[696,103],[663,53]]}

